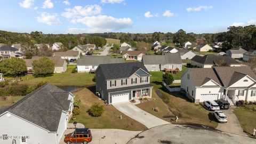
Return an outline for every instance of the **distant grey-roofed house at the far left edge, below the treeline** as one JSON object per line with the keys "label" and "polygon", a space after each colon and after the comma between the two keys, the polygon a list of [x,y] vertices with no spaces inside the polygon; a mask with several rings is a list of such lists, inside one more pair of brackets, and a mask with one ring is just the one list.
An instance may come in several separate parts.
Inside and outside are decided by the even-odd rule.
{"label": "distant grey-roofed house at the far left edge, below the treeline", "polygon": [[23,54],[20,52],[19,49],[12,47],[10,45],[3,45],[0,47],[0,56],[1,60],[11,58],[11,57],[18,57],[22,58]]}

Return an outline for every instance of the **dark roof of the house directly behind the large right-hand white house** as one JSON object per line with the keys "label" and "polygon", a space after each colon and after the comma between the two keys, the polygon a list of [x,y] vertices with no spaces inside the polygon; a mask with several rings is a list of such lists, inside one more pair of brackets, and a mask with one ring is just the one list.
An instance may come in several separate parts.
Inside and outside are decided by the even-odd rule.
{"label": "dark roof of the house directly behind the large right-hand white house", "polygon": [[238,61],[232,59],[231,57],[228,56],[222,56],[222,55],[213,55],[213,54],[207,54],[204,55],[204,57],[201,57],[199,55],[195,55],[191,60],[196,61],[198,63],[203,63],[205,65],[214,65],[219,63],[220,60],[224,60],[225,62],[230,64],[239,64]]}

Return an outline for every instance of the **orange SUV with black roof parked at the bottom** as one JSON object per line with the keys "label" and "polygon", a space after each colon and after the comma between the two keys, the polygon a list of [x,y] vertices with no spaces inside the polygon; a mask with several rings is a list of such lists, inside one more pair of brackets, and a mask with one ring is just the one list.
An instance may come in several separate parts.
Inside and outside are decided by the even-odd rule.
{"label": "orange SUV with black roof parked at the bottom", "polygon": [[64,142],[70,143],[83,143],[87,144],[92,141],[91,130],[89,129],[76,129],[74,132],[65,136]]}

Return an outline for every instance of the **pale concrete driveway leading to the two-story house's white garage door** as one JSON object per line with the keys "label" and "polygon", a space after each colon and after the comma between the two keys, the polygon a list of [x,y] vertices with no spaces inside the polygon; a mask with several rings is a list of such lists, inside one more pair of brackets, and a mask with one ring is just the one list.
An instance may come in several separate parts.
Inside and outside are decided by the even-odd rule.
{"label": "pale concrete driveway leading to the two-story house's white garage door", "polygon": [[164,121],[163,119],[160,119],[156,116],[153,116],[146,111],[138,108],[137,106],[132,105],[132,103],[129,102],[122,102],[122,103],[116,103],[113,104],[113,106],[121,111],[126,116],[131,117],[135,121],[138,121],[148,127],[149,129],[151,127],[155,127],[158,125],[164,125],[164,124],[170,124],[169,122]]}

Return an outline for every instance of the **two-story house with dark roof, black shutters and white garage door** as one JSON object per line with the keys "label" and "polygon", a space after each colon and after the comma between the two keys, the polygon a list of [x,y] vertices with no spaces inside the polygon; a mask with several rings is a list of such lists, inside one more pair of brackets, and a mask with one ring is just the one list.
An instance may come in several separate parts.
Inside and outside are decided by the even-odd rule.
{"label": "two-story house with dark roof, black shutters and white garage door", "polygon": [[96,91],[110,103],[151,97],[150,74],[142,62],[99,65]]}

